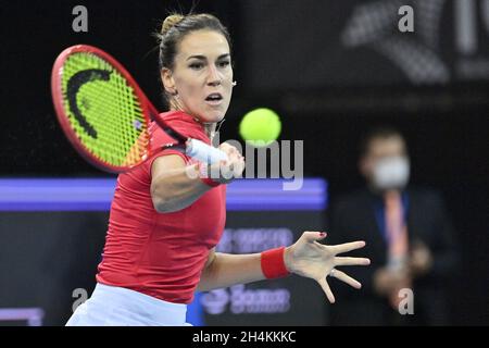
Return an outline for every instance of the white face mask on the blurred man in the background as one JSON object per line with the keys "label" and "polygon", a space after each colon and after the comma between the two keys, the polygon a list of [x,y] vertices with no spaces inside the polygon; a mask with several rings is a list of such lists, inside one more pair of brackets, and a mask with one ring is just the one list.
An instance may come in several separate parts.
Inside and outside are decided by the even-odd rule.
{"label": "white face mask on the blurred man in the background", "polygon": [[374,166],[373,181],[378,189],[403,188],[410,178],[410,161],[405,157],[388,157]]}

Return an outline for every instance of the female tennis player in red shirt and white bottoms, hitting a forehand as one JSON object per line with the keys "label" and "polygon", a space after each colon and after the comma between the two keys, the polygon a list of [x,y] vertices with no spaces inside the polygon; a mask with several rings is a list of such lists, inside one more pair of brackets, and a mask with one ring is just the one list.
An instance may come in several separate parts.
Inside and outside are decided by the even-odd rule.
{"label": "female tennis player in red shirt and white bottoms, hitting a forehand", "polygon": [[[160,35],[160,71],[177,132],[211,144],[231,98],[230,38],[210,14],[172,14]],[[150,129],[152,146],[163,130]],[[239,177],[244,159],[224,142],[228,160],[208,165],[166,149],[120,174],[111,207],[97,286],[66,325],[185,325],[196,290],[211,290],[296,273],[315,279],[330,302],[326,277],[361,284],[335,270],[368,259],[337,257],[364,241],[327,246],[322,232],[304,232],[293,245],[253,254],[215,252],[224,229],[226,185]],[[220,176],[206,175],[217,171]]]}

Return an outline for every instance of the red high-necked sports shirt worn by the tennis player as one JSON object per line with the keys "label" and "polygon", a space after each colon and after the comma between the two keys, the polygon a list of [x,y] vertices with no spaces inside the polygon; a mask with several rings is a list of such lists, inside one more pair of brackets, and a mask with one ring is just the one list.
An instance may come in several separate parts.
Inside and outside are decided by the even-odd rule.
{"label": "red high-necked sports shirt worn by the tennis player", "polygon": [[[201,124],[180,111],[163,114],[181,134],[210,144]],[[150,127],[151,146],[167,136]],[[151,200],[151,164],[160,156],[178,154],[167,149],[133,171],[120,174],[111,206],[109,231],[97,282],[129,288],[168,302],[189,303],[209,251],[220,240],[226,221],[226,186],[206,191],[191,206],[158,213]]]}

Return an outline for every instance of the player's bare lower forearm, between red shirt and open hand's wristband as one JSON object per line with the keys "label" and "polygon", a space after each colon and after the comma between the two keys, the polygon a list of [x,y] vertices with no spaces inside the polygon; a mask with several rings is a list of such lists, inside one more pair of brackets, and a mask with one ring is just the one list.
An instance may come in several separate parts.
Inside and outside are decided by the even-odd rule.
{"label": "player's bare lower forearm, between red shirt and open hand's wristband", "polygon": [[215,253],[213,261],[202,272],[199,291],[209,291],[236,284],[265,279],[261,268],[261,254]]}

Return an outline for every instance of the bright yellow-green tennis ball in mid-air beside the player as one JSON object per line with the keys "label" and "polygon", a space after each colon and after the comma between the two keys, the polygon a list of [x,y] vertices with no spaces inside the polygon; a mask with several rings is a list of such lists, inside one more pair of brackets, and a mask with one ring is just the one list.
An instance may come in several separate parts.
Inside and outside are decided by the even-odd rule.
{"label": "bright yellow-green tennis ball in mid-air beside the player", "polygon": [[248,112],[239,124],[241,137],[255,147],[271,145],[278,138],[280,130],[280,119],[273,110],[266,108]]}

